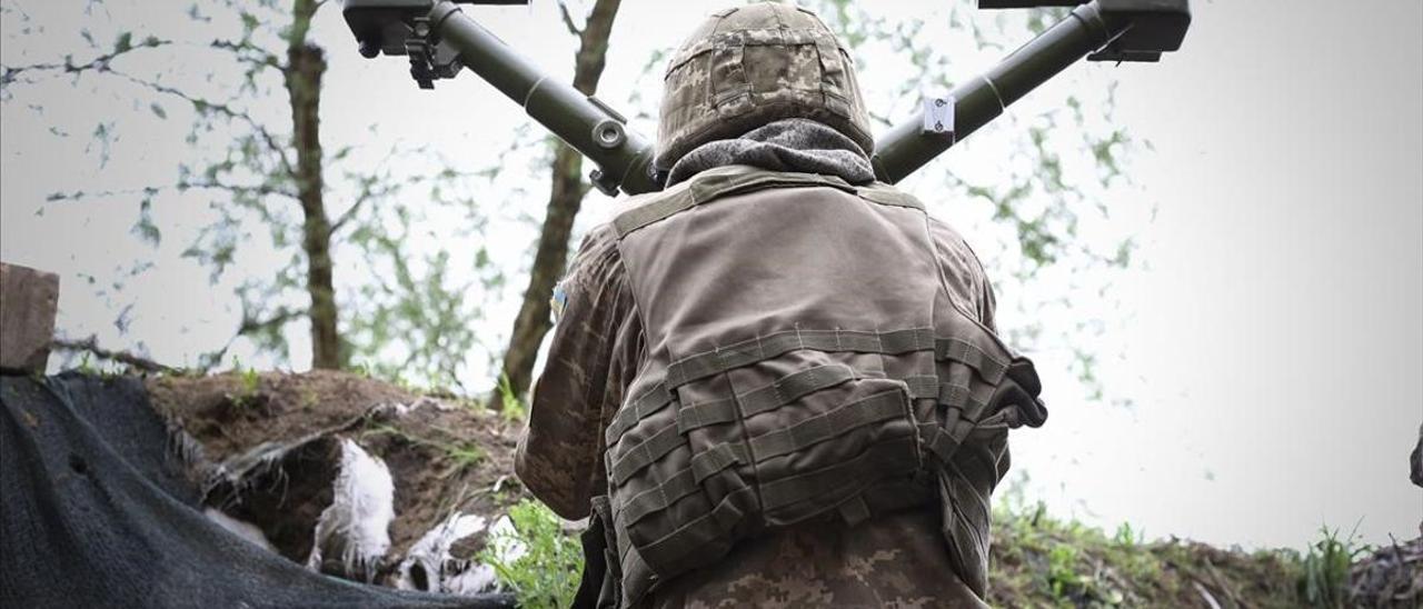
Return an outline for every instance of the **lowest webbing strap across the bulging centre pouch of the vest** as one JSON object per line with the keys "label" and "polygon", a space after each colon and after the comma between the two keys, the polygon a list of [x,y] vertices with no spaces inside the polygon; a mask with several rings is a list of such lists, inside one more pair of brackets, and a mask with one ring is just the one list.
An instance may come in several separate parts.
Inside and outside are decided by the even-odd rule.
{"label": "lowest webbing strap across the bulging centre pouch of the vest", "polygon": [[771,511],[827,495],[857,480],[871,478],[871,472],[912,470],[916,462],[916,438],[911,435],[878,443],[854,460],[822,470],[763,481],[761,508]]}

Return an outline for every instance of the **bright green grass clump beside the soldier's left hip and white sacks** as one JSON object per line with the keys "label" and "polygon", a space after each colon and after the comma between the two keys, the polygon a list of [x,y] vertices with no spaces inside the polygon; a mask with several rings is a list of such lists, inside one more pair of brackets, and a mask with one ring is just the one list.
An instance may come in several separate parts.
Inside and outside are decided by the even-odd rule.
{"label": "bright green grass clump beside the soldier's left hip and white sacks", "polygon": [[[531,609],[566,608],[578,592],[583,571],[583,552],[578,538],[564,532],[548,507],[524,499],[509,508],[512,535],[495,534],[480,554],[480,562],[494,566],[499,583],[514,591],[519,606]],[[522,548],[512,561],[504,556]]]}

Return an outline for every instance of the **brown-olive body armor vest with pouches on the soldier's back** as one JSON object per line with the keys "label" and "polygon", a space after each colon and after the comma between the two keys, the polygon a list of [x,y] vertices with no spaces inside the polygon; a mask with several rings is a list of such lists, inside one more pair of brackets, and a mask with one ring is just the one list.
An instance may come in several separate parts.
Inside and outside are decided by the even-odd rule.
{"label": "brown-olive body armor vest with pouches on the soldier's back", "polygon": [[595,501],[625,605],[767,529],[951,501],[970,434],[1046,417],[888,185],[724,166],[613,225],[646,336]]}

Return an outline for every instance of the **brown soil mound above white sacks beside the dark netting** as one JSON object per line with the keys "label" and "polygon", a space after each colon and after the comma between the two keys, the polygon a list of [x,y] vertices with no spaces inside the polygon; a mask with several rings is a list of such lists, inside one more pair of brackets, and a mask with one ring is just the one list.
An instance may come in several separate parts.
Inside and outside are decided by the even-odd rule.
{"label": "brown soil mound above white sacks beside the dark netting", "polygon": [[[155,410],[196,440],[212,464],[265,443],[292,444],[313,435],[356,440],[386,461],[396,482],[390,556],[404,555],[455,509],[490,517],[524,495],[512,477],[522,423],[472,401],[420,396],[334,371],[162,376],[149,378],[148,390]],[[332,441],[313,443],[292,458],[329,460],[339,452],[334,447]],[[256,485],[277,491],[248,498],[240,507],[228,505],[235,518],[258,524],[269,536],[275,532],[273,545],[293,559],[310,552],[307,522],[330,502],[334,475],[320,465],[297,470],[295,478],[285,474],[280,487]],[[303,482],[307,478],[310,484]],[[218,491],[215,502],[223,502],[225,494]],[[275,522],[277,515],[290,522]]]}

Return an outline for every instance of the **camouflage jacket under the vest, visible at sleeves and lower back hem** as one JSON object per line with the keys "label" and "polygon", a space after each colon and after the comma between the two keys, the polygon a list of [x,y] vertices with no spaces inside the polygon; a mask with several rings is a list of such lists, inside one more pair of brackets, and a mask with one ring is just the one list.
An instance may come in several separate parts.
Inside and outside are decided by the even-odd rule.
{"label": "camouflage jacket under the vest, visible at sleeves and lower back hem", "polygon": [[[993,327],[993,293],[965,240],[931,222],[953,297]],[[548,363],[518,447],[525,485],[564,518],[589,515],[606,488],[603,430],[645,361],[646,346],[615,231],[593,229],[555,296],[561,309]],[[965,445],[953,467],[969,498],[963,522],[988,536],[988,497],[1009,465],[1006,438]],[[959,497],[956,492],[955,497]],[[958,509],[956,509],[958,511]],[[982,606],[982,573],[956,575],[938,509],[854,528],[808,522],[739,545],[714,568],[657,588],[652,606]]]}

